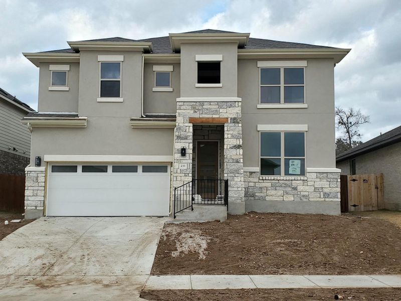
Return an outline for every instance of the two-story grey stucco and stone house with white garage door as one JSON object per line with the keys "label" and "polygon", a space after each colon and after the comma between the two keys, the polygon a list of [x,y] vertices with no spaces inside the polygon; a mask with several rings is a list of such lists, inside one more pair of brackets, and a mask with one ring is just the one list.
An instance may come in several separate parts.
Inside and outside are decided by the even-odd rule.
{"label": "two-story grey stucco and stone house with white garage door", "polygon": [[219,30],[68,44],[24,53],[40,68],[27,218],[340,213],[334,67],[349,49]]}

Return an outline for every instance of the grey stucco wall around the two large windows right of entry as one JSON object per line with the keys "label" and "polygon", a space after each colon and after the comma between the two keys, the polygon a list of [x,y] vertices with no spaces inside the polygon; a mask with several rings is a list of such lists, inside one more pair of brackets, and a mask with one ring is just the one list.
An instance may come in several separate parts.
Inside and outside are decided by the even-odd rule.
{"label": "grey stucco wall around the two large windows right of entry", "polygon": [[[257,124],[307,124],[308,168],[335,168],[334,62],[308,59],[305,103],[308,108],[258,109],[259,69],[253,59],[238,60],[238,97],[242,98],[244,167],[259,167]],[[263,60],[259,60],[263,61]]]}

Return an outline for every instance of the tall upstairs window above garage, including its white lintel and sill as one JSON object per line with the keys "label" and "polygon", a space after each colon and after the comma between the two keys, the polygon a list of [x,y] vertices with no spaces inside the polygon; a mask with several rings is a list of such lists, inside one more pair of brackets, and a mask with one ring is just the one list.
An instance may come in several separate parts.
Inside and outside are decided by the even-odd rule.
{"label": "tall upstairs window above garage, including its white lintel and sill", "polygon": [[121,68],[123,55],[98,55],[99,97],[98,102],[122,102]]}

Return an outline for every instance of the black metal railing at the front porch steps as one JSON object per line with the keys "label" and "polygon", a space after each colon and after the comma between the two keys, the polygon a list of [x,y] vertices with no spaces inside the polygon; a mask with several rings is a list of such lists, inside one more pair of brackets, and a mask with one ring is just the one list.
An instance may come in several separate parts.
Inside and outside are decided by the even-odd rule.
{"label": "black metal railing at the front porch steps", "polygon": [[224,205],[229,206],[228,180],[193,179],[174,188],[174,218],[175,214],[193,205]]}

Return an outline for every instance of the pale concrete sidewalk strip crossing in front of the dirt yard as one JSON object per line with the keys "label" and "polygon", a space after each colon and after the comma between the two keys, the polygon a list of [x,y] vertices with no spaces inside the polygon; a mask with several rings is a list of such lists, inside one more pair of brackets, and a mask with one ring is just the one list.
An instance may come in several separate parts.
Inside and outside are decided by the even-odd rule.
{"label": "pale concrete sidewalk strip crossing in front of the dirt yard", "polygon": [[162,275],[144,289],[401,287],[401,275]]}

